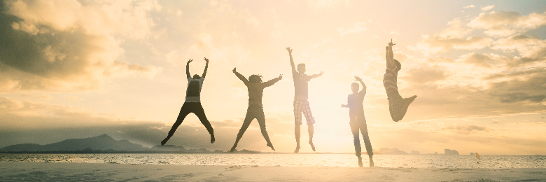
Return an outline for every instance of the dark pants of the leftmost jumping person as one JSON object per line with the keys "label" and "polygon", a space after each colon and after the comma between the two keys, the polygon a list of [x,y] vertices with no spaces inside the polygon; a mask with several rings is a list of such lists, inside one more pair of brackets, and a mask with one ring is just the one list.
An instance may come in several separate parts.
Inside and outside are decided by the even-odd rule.
{"label": "dark pants of the leftmost jumping person", "polygon": [[184,102],[182,105],[182,109],[180,109],[179,118],[176,118],[176,122],[174,125],[172,125],[171,131],[169,131],[169,137],[174,134],[177,128],[179,128],[180,124],[182,124],[182,121],[188,114],[195,113],[195,116],[199,118],[201,123],[207,128],[207,131],[209,131],[209,134],[214,134],[214,130],[212,130],[211,123],[207,119],[207,116],[204,114],[203,106],[201,106],[200,102]]}

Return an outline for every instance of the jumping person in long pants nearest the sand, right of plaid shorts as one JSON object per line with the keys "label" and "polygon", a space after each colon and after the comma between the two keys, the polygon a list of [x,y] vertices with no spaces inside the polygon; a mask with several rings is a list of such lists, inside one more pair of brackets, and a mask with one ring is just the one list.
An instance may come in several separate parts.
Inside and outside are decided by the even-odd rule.
{"label": "jumping person in long pants nearest the sand, right of plaid shorts", "polygon": [[366,146],[367,156],[370,157],[370,167],[374,167],[372,143],[370,137],[367,134],[366,118],[364,118],[364,96],[366,95],[366,85],[358,76],[354,76],[355,80],[358,80],[362,84],[362,90],[358,92],[358,83],[351,84],[351,90],[353,94],[349,94],[347,97],[347,104],[342,104],[342,107],[349,108],[349,125],[351,126],[351,132],[354,137],[354,151],[356,151],[356,157],[358,157],[358,166],[362,166],[362,158],[360,157],[360,135],[358,130],[362,132],[362,138],[364,139],[364,145]]}

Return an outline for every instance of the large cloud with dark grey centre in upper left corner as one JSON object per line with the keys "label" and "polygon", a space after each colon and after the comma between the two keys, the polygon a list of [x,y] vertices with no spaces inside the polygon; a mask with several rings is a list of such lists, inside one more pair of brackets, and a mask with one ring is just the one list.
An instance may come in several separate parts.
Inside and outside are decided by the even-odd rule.
{"label": "large cloud with dark grey centre in upper left corner", "polygon": [[[0,92],[92,90],[108,78],[152,78],[162,68],[119,62],[123,38],[143,39],[155,1],[4,1],[0,14]],[[11,90],[11,91],[10,91]]]}

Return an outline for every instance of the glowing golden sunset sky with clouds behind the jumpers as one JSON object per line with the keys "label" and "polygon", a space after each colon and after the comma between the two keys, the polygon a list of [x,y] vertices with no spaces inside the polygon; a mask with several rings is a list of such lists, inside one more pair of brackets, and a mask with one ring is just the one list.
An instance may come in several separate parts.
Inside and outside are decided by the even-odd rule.
{"label": "glowing golden sunset sky with clouds behind the jumpers", "polygon": [[[263,80],[276,152],[295,149],[286,47],[307,74],[317,152],[353,153],[354,76],[372,147],[546,155],[546,1],[22,1],[0,5],[0,148],[109,134],[160,144],[185,101],[186,62],[216,143],[190,114],[167,144],[228,151],[248,106],[232,73]],[[384,47],[402,64],[398,123],[382,84]],[[305,125],[305,124],[304,124]],[[300,152],[311,152],[302,126]],[[251,123],[237,149],[271,151]]]}

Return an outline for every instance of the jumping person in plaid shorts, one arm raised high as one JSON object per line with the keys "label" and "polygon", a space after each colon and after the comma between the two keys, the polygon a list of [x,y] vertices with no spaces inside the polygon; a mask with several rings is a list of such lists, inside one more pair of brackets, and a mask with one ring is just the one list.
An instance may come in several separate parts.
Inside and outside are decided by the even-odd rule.
{"label": "jumping person in plaid shorts, one arm raised high", "polygon": [[309,80],[318,76],[322,76],[324,71],[321,71],[321,73],[318,74],[308,76],[305,74],[305,64],[303,63],[297,64],[296,70],[294,66],[294,59],[292,59],[292,50],[290,49],[290,47],[286,48],[286,50],[288,50],[288,55],[290,56],[290,66],[292,66],[292,78],[294,79],[294,134],[296,139],[296,149],[294,153],[300,152],[300,128],[302,125],[302,113],[305,116],[305,120],[307,121],[307,132],[309,132],[309,145],[311,145],[311,149],[315,151],[315,146],[313,145],[313,124],[315,123],[315,118],[313,118],[313,114],[311,113],[311,107],[309,107],[309,102],[307,101],[309,88],[308,83]]}

